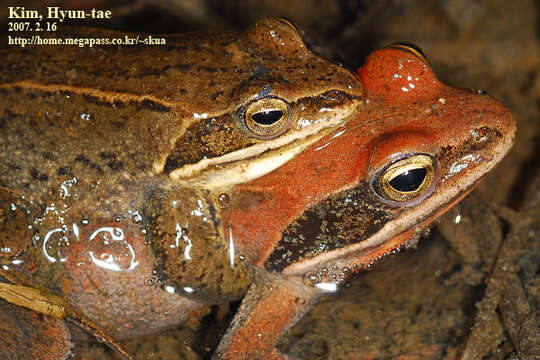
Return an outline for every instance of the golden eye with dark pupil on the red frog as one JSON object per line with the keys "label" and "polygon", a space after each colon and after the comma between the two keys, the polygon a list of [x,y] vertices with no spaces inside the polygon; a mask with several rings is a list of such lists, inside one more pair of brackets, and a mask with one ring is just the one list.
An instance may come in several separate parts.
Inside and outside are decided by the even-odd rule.
{"label": "golden eye with dark pupil on the red frog", "polygon": [[376,187],[384,198],[405,202],[424,195],[431,188],[434,178],[433,158],[417,154],[398,160],[384,169]]}

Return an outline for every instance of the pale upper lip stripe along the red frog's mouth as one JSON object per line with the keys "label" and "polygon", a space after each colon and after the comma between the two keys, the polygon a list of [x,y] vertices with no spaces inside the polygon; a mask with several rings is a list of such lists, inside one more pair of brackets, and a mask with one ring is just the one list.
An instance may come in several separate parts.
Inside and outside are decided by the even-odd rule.
{"label": "pale upper lip stripe along the red frog's mouth", "polygon": [[[399,237],[400,235],[411,231],[411,229],[415,229],[421,226],[423,223],[426,223],[426,225],[431,223],[433,219],[442,215],[453,204],[463,199],[469,192],[471,192],[476,187],[476,185],[482,180],[482,178],[484,178],[493,168],[495,168],[501,162],[501,160],[508,153],[512,145],[513,141],[511,140],[501,144],[499,147],[500,150],[489,161],[486,161],[484,165],[477,168],[475,174],[478,173],[479,175],[475,176],[473,174],[472,176],[466,177],[464,180],[454,184],[454,186],[452,186],[452,191],[449,194],[446,194],[445,196],[438,196],[436,198],[427,198],[425,200],[427,203],[422,206],[421,213],[419,211],[411,211],[404,217],[389,221],[378,232],[366,239],[353,243],[348,247],[334,249],[327,253],[317,255],[316,257],[293,263],[290,266],[284,268],[282,270],[282,273],[287,275],[303,276],[307,271],[316,269],[317,267],[334,265],[337,265],[339,267],[350,267],[353,264],[362,263],[362,253],[369,252],[370,250],[376,250],[377,254],[380,256],[383,252],[385,252],[384,249],[386,248],[391,247],[391,249],[389,250],[391,251],[392,249],[399,247],[409,238],[402,239],[397,244],[388,244],[389,246],[385,246],[385,243],[387,241],[390,241],[390,239],[392,238]],[[462,190],[461,187],[463,183],[472,185],[468,186],[469,188],[465,191]],[[395,231],[394,229],[396,228],[399,230]],[[377,248],[380,249],[377,250]],[[367,263],[370,262],[371,261],[368,261]],[[364,265],[367,265],[367,263]]]}

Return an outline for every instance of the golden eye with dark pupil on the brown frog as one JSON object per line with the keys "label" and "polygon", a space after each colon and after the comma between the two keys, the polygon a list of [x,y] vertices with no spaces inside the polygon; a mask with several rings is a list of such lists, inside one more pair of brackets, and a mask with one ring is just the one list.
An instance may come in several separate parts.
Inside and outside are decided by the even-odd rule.
{"label": "golden eye with dark pupil on the brown frog", "polygon": [[265,97],[254,100],[241,109],[240,118],[252,135],[271,139],[288,129],[290,107],[280,98]]}

